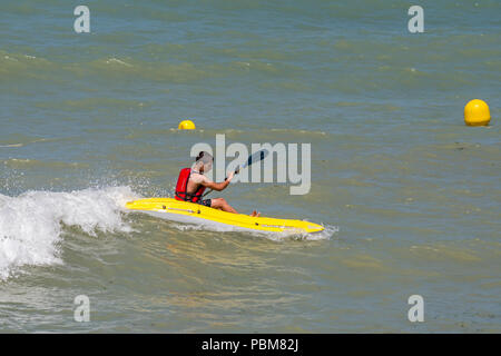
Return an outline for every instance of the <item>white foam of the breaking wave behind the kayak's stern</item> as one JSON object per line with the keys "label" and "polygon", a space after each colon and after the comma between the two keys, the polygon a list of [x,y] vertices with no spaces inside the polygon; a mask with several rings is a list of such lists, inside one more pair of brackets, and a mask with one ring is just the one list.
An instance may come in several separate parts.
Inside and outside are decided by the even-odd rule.
{"label": "white foam of the breaking wave behind the kayak's stern", "polygon": [[61,222],[92,236],[97,230],[130,231],[120,211],[136,198],[129,187],[0,195],[0,280],[22,266],[61,264]]}

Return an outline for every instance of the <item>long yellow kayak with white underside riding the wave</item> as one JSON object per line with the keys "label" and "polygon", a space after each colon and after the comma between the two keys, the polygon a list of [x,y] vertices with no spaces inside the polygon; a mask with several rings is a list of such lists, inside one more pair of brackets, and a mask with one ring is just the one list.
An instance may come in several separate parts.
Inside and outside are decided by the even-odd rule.
{"label": "long yellow kayak with white underside riding the wave", "polygon": [[173,198],[139,199],[128,201],[126,207],[131,210],[146,212],[173,221],[213,225],[228,227],[230,229],[236,228],[275,233],[317,233],[324,229],[323,226],[310,221],[232,214]]}

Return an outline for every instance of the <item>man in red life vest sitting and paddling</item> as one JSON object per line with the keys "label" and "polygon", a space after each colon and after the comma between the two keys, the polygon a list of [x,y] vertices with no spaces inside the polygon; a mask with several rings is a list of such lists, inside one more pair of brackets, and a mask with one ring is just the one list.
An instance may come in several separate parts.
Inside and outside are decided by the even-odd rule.
{"label": "man in red life vest sitting and paddling", "polygon": [[[214,158],[206,151],[200,151],[195,159],[193,168],[183,168],[176,185],[176,199],[204,205],[206,207],[220,209],[233,214],[238,214],[225,198],[202,199],[206,188],[222,191],[232,181],[235,172],[230,172],[225,181],[215,182],[204,176],[213,168]],[[259,216],[255,210],[250,216]]]}

